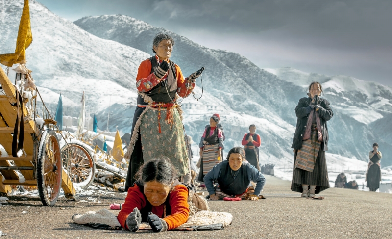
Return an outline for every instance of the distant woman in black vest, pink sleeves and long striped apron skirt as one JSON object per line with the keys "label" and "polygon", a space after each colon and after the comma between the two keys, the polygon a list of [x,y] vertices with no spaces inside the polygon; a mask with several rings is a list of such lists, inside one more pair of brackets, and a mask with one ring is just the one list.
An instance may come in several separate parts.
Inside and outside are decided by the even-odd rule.
{"label": "distant woman in black vest, pink sleeves and long striped apron skirt", "polygon": [[220,117],[214,114],[210,118],[210,126],[205,128],[201,136],[200,147],[200,172],[197,180],[203,182],[204,176],[222,160],[223,135],[217,127]]}

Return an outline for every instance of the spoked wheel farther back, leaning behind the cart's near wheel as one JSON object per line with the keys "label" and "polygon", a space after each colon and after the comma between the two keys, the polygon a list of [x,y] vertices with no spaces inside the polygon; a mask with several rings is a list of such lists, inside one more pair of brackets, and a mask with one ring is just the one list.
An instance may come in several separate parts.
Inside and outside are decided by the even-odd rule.
{"label": "spoked wheel farther back, leaning behind the cart's near wheel", "polygon": [[61,149],[64,168],[70,175],[73,186],[87,189],[94,181],[95,162],[86,146],[77,141],[66,144]]}

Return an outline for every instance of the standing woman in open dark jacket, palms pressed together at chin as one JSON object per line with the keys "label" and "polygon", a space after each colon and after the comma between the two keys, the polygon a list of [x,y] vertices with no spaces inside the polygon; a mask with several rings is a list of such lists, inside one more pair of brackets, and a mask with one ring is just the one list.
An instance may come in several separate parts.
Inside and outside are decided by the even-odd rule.
{"label": "standing woman in open dark jacket, palms pressed together at chin", "polygon": [[301,197],[329,188],[325,151],[328,150],[327,121],[333,116],[329,102],[320,98],[322,86],[319,82],[309,85],[308,97],[301,98],[295,107],[297,125],[292,148],[294,169],[291,190],[302,192]]}

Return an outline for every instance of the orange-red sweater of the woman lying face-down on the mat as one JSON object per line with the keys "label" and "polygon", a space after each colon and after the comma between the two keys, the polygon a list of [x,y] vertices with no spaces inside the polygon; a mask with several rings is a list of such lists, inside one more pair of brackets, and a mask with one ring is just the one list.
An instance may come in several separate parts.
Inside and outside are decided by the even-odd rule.
{"label": "orange-red sweater of the woman lying face-down on the mat", "polygon": [[[176,185],[174,189],[169,192],[169,204],[172,208],[172,215],[163,218],[168,224],[168,230],[179,227],[184,224],[189,217],[189,204],[188,204],[188,188],[184,185]],[[144,193],[140,191],[140,188],[135,184],[133,187],[128,189],[128,195],[125,198],[123,207],[117,216],[121,226],[127,228],[125,225],[126,218],[129,213],[133,212],[134,208],[141,210],[146,206],[146,199]],[[164,213],[164,204],[155,207],[152,206],[152,213],[162,218]]]}

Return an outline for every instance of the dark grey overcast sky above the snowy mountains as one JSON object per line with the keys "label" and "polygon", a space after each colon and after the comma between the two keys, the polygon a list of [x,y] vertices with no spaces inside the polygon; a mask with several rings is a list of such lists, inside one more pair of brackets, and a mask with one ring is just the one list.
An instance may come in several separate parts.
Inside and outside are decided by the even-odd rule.
{"label": "dark grey overcast sky above the snowy mountains", "polygon": [[124,14],[261,68],[392,85],[392,0],[38,0],[57,15]]}

